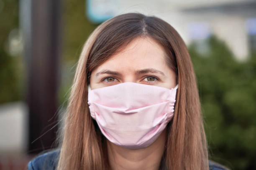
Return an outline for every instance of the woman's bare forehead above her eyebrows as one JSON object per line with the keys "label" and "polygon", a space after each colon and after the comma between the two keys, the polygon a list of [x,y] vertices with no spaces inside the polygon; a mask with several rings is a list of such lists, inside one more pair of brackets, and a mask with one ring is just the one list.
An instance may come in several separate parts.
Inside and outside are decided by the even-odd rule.
{"label": "woman's bare forehead above her eyebrows", "polygon": [[122,51],[112,55],[93,72],[102,69],[133,71],[152,67],[159,70],[168,69],[165,62],[164,48],[151,37],[137,37]]}

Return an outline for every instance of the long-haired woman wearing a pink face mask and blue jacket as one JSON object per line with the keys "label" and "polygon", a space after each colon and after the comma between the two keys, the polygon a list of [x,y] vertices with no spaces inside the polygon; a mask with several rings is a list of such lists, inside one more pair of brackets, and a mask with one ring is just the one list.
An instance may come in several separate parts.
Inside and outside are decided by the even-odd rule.
{"label": "long-haired woman wearing a pink face mask and blue jacket", "polygon": [[176,30],[139,13],[107,20],[79,58],[60,149],[28,169],[208,170],[195,72]]}

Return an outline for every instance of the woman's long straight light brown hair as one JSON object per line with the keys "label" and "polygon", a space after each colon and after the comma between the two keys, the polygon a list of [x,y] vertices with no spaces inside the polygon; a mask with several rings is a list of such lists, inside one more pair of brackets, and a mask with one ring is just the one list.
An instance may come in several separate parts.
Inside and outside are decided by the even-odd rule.
{"label": "woman's long straight light brown hair", "polygon": [[179,83],[174,117],[168,123],[161,167],[208,170],[208,153],[193,65],[178,32],[164,20],[140,13],[118,15],[99,25],[79,57],[64,116],[58,170],[110,169],[106,139],[87,104],[91,72],[136,37],[151,37],[166,52],[166,63]]}

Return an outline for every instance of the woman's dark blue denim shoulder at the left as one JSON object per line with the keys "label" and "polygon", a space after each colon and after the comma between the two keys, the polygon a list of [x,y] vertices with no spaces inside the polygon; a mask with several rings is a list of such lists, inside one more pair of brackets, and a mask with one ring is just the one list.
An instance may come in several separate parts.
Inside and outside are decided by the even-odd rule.
{"label": "woman's dark blue denim shoulder at the left", "polygon": [[54,150],[37,156],[28,163],[28,170],[55,170],[60,150]]}

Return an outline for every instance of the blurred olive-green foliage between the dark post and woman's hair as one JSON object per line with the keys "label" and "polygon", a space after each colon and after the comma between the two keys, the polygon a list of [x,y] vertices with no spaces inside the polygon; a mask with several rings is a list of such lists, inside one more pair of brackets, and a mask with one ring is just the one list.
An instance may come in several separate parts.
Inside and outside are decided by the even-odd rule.
{"label": "blurred olive-green foliage between the dark post and woman's hair", "polygon": [[63,45],[61,56],[61,87],[59,101],[67,105],[74,72],[84,42],[98,26],[91,23],[86,16],[85,0],[63,1]]}

